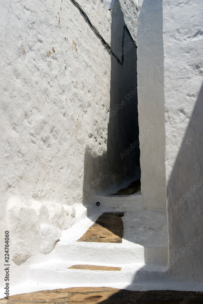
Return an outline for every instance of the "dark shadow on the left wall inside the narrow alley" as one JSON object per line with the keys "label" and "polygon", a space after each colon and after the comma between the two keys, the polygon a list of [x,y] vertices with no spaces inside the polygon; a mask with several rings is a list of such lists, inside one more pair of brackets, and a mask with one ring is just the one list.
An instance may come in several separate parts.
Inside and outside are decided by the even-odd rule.
{"label": "dark shadow on the left wall inside the narrow alley", "polygon": [[[123,12],[119,1],[116,0],[112,10],[110,45],[120,59],[124,25]],[[123,65],[111,55],[107,152],[98,156],[93,147],[88,146],[85,151],[85,205],[94,190],[105,190],[136,175],[136,168],[140,167],[138,136],[137,52],[125,32]]]}

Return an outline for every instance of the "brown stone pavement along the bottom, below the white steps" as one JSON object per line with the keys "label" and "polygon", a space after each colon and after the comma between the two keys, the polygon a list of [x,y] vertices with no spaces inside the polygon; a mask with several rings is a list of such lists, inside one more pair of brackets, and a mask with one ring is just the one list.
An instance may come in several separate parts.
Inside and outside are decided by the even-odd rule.
{"label": "brown stone pavement along the bottom, below the white steps", "polygon": [[109,287],[75,287],[12,295],[0,304],[200,304],[203,292],[153,290],[130,291]]}

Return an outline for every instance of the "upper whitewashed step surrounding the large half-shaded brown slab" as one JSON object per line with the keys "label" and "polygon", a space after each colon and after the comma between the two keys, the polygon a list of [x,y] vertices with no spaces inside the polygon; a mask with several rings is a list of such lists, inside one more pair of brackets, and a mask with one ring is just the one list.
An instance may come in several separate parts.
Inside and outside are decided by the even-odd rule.
{"label": "upper whitewashed step surrounding the large half-shaded brown slab", "polygon": [[63,261],[88,261],[96,264],[167,264],[167,218],[164,210],[125,212],[121,244],[77,242],[100,216],[93,214],[62,233],[49,258]]}

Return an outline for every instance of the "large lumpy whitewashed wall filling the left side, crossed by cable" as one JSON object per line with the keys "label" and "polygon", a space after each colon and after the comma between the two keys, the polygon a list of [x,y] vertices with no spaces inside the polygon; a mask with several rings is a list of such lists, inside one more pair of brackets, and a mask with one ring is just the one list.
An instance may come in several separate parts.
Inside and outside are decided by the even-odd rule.
{"label": "large lumpy whitewashed wall filling the left side, crossed by cable", "polygon": [[[113,13],[128,16],[130,12],[126,22],[136,39],[136,5],[130,0],[125,4],[117,1],[110,12],[103,1],[80,2],[108,43],[112,40]],[[110,166],[112,151],[121,153],[121,142],[114,148],[109,145],[105,163],[107,140],[110,143],[111,60],[116,59],[111,58],[72,2],[6,0],[1,11],[0,210],[2,231],[9,229],[13,240],[12,258],[21,263],[35,250],[50,251],[60,230],[86,212],[82,203],[89,202],[91,189],[106,189],[121,182],[133,173],[135,156],[131,153],[125,162],[119,159],[122,166],[114,175],[117,164]],[[116,53],[121,52],[124,17],[122,22],[117,32],[114,29]],[[134,66],[131,70],[136,76]],[[126,74],[127,81],[130,73]],[[122,85],[122,76],[119,81],[117,86]],[[113,102],[120,103],[121,98]],[[122,123],[124,129],[126,121]],[[111,134],[119,142],[117,130]],[[133,130],[130,134],[132,137]],[[100,178],[104,171],[107,178]],[[99,184],[95,183],[98,178]]]}

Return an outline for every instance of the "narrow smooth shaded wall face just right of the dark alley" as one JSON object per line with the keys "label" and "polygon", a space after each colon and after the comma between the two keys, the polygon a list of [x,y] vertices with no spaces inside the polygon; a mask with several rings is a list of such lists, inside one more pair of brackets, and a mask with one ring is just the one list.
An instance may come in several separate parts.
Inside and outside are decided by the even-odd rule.
{"label": "narrow smooth shaded wall face just right of the dark alley", "polygon": [[138,3],[138,113],[141,192],[148,208],[166,208],[162,0]]}

